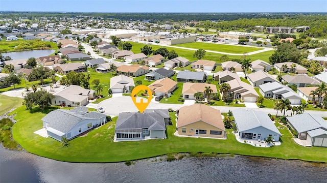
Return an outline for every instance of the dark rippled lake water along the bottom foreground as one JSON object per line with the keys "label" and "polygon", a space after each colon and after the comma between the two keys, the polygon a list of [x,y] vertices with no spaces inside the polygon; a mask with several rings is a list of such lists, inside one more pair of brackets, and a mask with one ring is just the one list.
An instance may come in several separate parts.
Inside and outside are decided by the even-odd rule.
{"label": "dark rippled lake water along the bottom foreground", "polygon": [[326,182],[326,171],[322,163],[244,156],[67,163],[0,147],[0,182]]}

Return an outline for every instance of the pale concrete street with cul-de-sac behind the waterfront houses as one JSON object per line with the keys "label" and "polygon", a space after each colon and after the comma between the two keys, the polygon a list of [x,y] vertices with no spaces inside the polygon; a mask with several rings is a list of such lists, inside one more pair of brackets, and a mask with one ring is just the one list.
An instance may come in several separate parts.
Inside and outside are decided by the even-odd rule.
{"label": "pale concrete street with cul-de-sac behind the waterfront houses", "polygon": [[[165,100],[165,99],[162,99]],[[188,105],[191,105],[188,103]],[[137,112],[138,109],[135,107],[129,96],[126,97],[115,97],[111,99],[104,100],[98,104],[105,109],[105,114],[107,115],[118,115],[120,112]],[[156,102],[151,102],[148,106],[148,109],[169,109],[172,108],[174,110],[179,109],[182,106],[186,106],[185,104],[160,104]],[[228,110],[238,109],[239,107],[229,107],[229,106],[212,106],[215,109],[219,109],[221,112],[228,112]],[[246,107],[246,109],[253,109],[257,111],[263,111],[265,113],[276,114],[276,110],[268,109],[268,108],[250,108]],[[307,110],[308,111],[308,110]],[[281,114],[281,111],[278,111],[278,114]],[[320,115],[322,117],[327,117],[326,111],[310,111],[310,114]],[[291,111],[286,111],[285,115],[291,115]]]}

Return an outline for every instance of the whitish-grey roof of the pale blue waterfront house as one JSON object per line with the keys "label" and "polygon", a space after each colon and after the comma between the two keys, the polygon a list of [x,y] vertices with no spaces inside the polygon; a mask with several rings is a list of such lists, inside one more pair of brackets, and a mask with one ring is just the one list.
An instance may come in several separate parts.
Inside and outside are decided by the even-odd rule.
{"label": "whitish-grey roof of the pale blue waterfront house", "polygon": [[264,127],[265,129],[281,135],[270,117],[262,111],[235,109],[232,110],[232,113],[239,132]]}

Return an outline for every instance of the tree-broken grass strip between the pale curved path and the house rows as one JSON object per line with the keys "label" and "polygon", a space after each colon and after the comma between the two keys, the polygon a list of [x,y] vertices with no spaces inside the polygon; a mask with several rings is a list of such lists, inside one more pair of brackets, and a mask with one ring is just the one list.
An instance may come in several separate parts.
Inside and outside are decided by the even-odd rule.
{"label": "tree-broken grass strip between the pale curved path and the house rows", "polygon": [[[141,53],[141,48],[145,45],[143,43],[135,43],[135,42],[129,42],[129,43],[131,43],[133,45],[132,50],[131,50],[131,51],[133,51],[133,53]],[[154,50],[161,48],[161,47],[165,47],[165,46],[158,46],[158,45],[149,45],[149,46],[151,46],[152,49],[154,49]],[[169,51],[175,50],[176,53],[178,54],[178,56],[185,57],[185,58],[189,59],[191,62],[196,60],[196,58],[193,57],[193,54],[195,52],[193,50],[186,50],[186,49],[172,48],[172,47],[165,47],[165,48],[167,48]],[[253,55],[248,55],[247,57],[250,58],[251,61],[254,61],[256,59],[262,59],[269,63],[269,56],[272,55],[273,52],[274,52],[274,50],[265,51],[265,52],[261,52],[261,53],[257,53],[257,54],[253,54]],[[216,63],[222,63],[220,61],[220,57],[222,55],[224,55],[224,54],[206,52],[203,59],[213,60]],[[226,55],[228,55],[228,54],[226,54]],[[232,59],[232,58],[241,58],[242,56],[228,55],[228,57],[230,59]]]}

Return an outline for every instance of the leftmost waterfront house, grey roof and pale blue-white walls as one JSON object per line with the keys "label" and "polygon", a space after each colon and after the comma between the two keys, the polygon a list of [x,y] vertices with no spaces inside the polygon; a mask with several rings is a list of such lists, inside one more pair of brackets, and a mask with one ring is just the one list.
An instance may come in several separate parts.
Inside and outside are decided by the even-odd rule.
{"label": "leftmost waterfront house, grey roof and pale blue-white walls", "polygon": [[87,108],[80,106],[71,110],[51,111],[42,121],[48,136],[61,142],[63,137],[71,140],[97,125],[105,124],[106,115],[97,111],[87,113]]}

